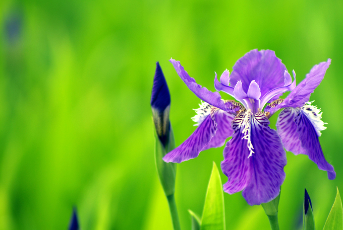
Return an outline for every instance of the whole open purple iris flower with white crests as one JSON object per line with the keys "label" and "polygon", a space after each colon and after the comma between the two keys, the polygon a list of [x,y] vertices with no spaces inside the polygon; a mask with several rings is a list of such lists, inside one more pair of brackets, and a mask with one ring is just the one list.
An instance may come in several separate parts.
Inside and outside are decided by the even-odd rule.
{"label": "whole open purple iris flower with white crests", "polygon": [[[226,142],[221,169],[228,177],[223,189],[229,194],[243,190],[250,205],[267,203],[280,192],[287,164],[283,147],[295,155],[305,154],[327,171],[333,180],[335,172],[321,149],[320,131],[325,129],[320,110],[311,105],[311,93],[324,78],[331,60],[315,65],[298,86],[285,65],[272,50],[251,50],[240,58],[233,72],[225,70],[220,82],[215,74],[214,87],[233,96],[223,100],[218,92],[198,85],[180,61],[170,59],[181,79],[202,101],[197,115],[197,129],[179,147],[164,156],[165,162],[181,163],[196,158],[200,151],[219,147]],[[279,97],[291,91],[286,99]],[[266,107],[266,103],[269,103]],[[264,109],[263,109],[264,108]],[[277,131],[269,120],[284,108],[277,119]]]}

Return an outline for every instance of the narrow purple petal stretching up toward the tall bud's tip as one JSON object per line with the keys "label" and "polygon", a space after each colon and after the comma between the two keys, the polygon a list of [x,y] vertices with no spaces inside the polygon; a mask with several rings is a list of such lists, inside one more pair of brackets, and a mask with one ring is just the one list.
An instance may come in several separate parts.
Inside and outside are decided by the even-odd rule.
{"label": "narrow purple petal stretching up toward the tall bud's tip", "polygon": [[194,78],[191,78],[184,67],[180,64],[180,61],[170,59],[170,62],[174,65],[175,70],[179,74],[180,78],[186,83],[188,88],[201,100],[213,105],[219,109],[225,110],[225,103],[221,100],[221,96],[218,92],[211,92],[205,87],[198,85]]}

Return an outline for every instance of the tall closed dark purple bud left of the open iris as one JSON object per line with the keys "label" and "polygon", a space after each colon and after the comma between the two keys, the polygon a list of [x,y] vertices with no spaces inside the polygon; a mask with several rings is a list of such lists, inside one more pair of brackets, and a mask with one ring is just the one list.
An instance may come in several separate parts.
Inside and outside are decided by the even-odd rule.
{"label": "tall closed dark purple bud left of the open iris", "polygon": [[156,71],[151,93],[151,109],[158,138],[166,146],[169,135],[170,94],[161,66],[156,63]]}

